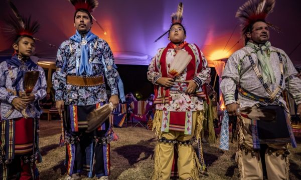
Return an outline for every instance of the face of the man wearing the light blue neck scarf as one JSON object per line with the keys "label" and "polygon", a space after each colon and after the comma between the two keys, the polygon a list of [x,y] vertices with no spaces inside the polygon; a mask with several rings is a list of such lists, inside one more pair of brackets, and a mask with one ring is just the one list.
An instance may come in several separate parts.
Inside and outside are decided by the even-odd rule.
{"label": "face of the man wearing the light blue neck scarf", "polygon": [[76,12],[74,26],[79,32],[87,32],[92,27],[89,15],[86,12]]}

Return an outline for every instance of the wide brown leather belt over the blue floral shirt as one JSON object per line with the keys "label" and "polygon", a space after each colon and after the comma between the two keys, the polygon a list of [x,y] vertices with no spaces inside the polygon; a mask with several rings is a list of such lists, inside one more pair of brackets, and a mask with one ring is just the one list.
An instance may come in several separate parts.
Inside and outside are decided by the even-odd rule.
{"label": "wide brown leather belt over the blue floral shirt", "polygon": [[67,84],[81,86],[81,87],[91,87],[104,84],[104,76],[90,76],[82,77],[76,75],[67,75]]}

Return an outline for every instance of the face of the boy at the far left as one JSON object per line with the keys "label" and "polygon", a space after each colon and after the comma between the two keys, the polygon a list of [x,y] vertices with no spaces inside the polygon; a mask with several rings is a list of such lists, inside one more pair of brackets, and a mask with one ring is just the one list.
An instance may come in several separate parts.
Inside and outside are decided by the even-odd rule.
{"label": "face of the boy at the far left", "polygon": [[18,44],[13,44],[14,49],[21,56],[32,56],[36,50],[36,43],[32,38],[23,37],[19,40]]}

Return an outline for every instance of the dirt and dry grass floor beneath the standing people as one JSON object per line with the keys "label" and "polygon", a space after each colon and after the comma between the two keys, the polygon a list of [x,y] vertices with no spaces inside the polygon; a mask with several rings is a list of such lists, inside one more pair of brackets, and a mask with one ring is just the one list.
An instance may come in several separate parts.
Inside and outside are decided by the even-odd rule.
{"label": "dirt and dry grass floor beneath the standing people", "polygon": [[[154,147],[157,139],[153,131],[141,127],[114,128],[118,141],[111,142],[112,179],[148,180],[153,172]],[[43,162],[38,164],[40,179],[65,179],[65,147],[59,147],[60,121],[40,122],[40,150]],[[290,148],[290,179],[301,179],[301,140],[298,147]],[[219,141],[217,142],[219,144]],[[239,179],[235,158],[236,143],[230,143],[229,151],[221,151],[217,144],[204,144],[207,175],[200,179]],[[83,176],[82,179],[89,179]],[[93,179],[96,179],[95,177]]]}

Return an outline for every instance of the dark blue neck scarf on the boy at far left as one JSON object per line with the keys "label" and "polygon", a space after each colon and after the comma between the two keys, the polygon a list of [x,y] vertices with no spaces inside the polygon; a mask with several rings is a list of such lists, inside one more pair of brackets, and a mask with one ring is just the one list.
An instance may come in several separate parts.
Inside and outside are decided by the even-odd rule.
{"label": "dark blue neck scarf on the boy at far left", "polygon": [[[19,68],[17,78],[15,79],[15,81],[12,84],[13,86],[16,86],[16,90],[18,92],[20,90],[20,84],[19,84],[20,80],[21,80],[22,77],[24,77],[26,70],[20,68],[22,63],[21,63],[21,60],[19,60],[17,54],[12,56],[11,59],[7,59],[6,62],[10,65],[14,65],[14,66]],[[34,61],[32,61],[31,58],[28,58],[26,60],[26,62],[24,63],[24,65],[26,65],[28,69],[31,69],[31,68],[34,68],[34,67],[37,66],[37,64]]]}

